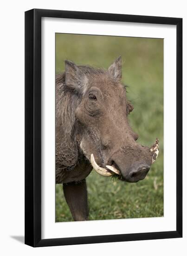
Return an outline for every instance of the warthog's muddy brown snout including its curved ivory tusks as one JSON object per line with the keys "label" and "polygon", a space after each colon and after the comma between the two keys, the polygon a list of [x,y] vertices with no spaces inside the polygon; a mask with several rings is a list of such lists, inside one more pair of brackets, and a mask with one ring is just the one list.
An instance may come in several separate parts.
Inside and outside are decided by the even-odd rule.
{"label": "warthog's muddy brown snout including its curved ivory tusks", "polygon": [[99,166],[91,155],[90,162],[98,174],[103,176],[118,175],[118,178],[126,182],[138,182],[143,180],[159,152],[159,141],[156,139],[151,148],[135,144],[133,147],[122,147],[109,159],[107,164]]}

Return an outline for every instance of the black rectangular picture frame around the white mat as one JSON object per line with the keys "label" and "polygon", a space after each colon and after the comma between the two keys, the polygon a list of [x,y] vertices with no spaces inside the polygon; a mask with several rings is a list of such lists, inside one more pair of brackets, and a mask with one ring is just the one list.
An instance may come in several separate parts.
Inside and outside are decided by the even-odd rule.
{"label": "black rectangular picture frame around the white mat", "polygon": [[[176,230],[41,239],[41,18],[168,24],[177,27]],[[182,19],[32,9],[25,12],[25,243],[33,247],[182,237]]]}

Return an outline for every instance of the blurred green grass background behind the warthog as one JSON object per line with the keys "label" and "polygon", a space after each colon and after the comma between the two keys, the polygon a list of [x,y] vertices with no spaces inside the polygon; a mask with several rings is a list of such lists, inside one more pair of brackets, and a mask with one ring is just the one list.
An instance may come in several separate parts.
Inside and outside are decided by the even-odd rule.
{"label": "blurred green grass background behind the warthog", "polygon": [[[87,177],[90,220],[163,216],[163,40],[149,38],[56,34],[56,73],[64,60],[108,68],[123,58],[123,83],[134,110],[129,115],[138,142],[151,146],[158,137],[160,153],[147,177],[118,182],[95,171]],[[56,222],[72,221],[62,185],[56,185]]]}

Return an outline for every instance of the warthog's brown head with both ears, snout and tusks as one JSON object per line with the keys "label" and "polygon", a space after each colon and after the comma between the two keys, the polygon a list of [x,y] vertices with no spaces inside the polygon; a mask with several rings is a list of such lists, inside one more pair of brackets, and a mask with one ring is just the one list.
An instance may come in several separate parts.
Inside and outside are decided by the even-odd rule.
{"label": "warthog's brown head with both ears, snout and tusks", "polygon": [[77,66],[65,61],[65,83],[79,96],[75,109],[77,141],[93,168],[103,176],[138,182],[147,175],[159,152],[156,139],[151,147],[139,145],[129,126],[133,106],[121,83],[121,57],[108,70]]}

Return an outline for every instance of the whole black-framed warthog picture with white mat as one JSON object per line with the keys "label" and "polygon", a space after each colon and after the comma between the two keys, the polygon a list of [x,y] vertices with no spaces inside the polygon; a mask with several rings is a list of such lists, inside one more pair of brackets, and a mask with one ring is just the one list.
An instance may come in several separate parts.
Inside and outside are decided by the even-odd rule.
{"label": "whole black-framed warthog picture with white mat", "polygon": [[25,243],[182,237],[182,19],[25,13]]}

